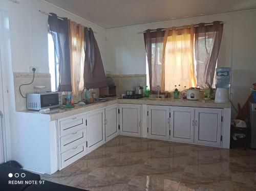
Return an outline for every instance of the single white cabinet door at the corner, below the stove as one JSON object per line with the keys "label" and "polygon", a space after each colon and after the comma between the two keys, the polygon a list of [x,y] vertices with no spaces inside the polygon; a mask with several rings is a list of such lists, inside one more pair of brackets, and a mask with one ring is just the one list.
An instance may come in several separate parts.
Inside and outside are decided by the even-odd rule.
{"label": "single white cabinet door at the corner, below the stove", "polygon": [[135,104],[120,104],[120,134],[141,136],[141,106]]}

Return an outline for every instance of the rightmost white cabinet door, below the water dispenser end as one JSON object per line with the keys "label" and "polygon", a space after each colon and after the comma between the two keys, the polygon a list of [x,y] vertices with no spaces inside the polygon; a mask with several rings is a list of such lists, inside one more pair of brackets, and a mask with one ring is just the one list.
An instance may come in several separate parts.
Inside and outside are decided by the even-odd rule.
{"label": "rightmost white cabinet door, below the water dispenser end", "polygon": [[222,109],[195,109],[195,142],[209,146],[221,146]]}

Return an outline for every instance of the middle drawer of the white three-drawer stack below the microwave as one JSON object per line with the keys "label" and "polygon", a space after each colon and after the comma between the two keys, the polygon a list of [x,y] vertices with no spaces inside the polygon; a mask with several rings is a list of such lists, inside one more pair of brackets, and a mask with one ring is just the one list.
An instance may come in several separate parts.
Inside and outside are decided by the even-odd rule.
{"label": "middle drawer of the white three-drawer stack below the microwave", "polygon": [[69,135],[60,138],[60,152],[65,152],[69,149],[86,141],[86,128],[75,131]]}

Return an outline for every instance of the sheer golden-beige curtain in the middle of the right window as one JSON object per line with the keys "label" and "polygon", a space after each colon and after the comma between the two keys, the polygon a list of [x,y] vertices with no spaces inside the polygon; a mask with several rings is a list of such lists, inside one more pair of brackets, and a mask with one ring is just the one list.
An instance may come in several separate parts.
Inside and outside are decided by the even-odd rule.
{"label": "sheer golden-beige curtain in the middle of the right window", "polygon": [[196,86],[194,67],[194,25],[166,29],[163,42],[162,91]]}

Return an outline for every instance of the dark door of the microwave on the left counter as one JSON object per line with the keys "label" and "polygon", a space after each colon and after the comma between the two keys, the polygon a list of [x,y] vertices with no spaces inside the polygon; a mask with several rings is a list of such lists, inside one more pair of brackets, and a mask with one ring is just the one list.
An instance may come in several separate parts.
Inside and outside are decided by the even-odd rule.
{"label": "dark door of the microwave on the left counter", "polygon": [[59,106],[59,95],[58,93],[52,94],[41,94],[41,109],[54,108]]}

